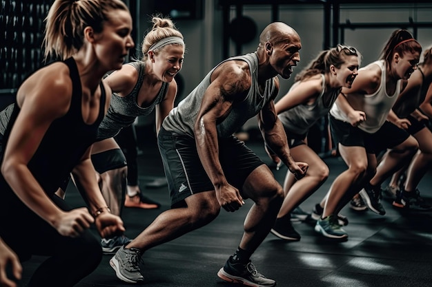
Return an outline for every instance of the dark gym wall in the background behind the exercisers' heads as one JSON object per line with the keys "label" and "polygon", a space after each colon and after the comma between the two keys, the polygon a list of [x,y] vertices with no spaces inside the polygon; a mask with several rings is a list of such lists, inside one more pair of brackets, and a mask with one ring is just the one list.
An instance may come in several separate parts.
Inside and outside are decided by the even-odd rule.
{"label": "dark gym wall in the background behind the exercisers' heads", "polygon": [[[184,34],[186,42],[186,55],[181,75],[184,78],[184,94],[190,92],[202,77],[219,61],[222,60],[223,50],[223,19],[221,0],[185,0],[173,1],[173,5],[187,3],[191,11],[202,11],[202,17],[191,17],[177,19],[174,21],[177,28]],[[31,2],[31,3],[30,3]],[[136,31],[136,50],[139,54],[141,40],[149,28],[150,15],[157,12],[155,6],[170,7],[166,0],[125,1],[132,7],[131,13],[134,17]],[[247,1],[241,1],[247,2]],[[266,1],[249,1],[266,2]],[[295,68],[295,73],[299,72],[313,57],[322,50],[324,43],[323,23],[324,13],[321,4],[292,4],[295,1],[281,0],[277,17],[295,28],[302,37],[303,48],[301,51],[302,61]],[[336,2],[336,1],[334,1]],[[357,3],[355,5],[340,5],[340,22],[351,23],[399,23],[412,21],[414,23],[425,23],[432,21],[432,3],[417,3],[407,1],[407,3]],[[397,1],[396,1],[397,2]],[[6,35],[7,41],[1,43],[0,54],[0,108],[10,101],[10,87],[15,87],[17,83],[33,72],[37,66],[41,65],[41,43],[38,43],[43,32],[43,18],[46,16],[48,7],[52,1],[24,1],[24,0],[1,0],[0,29]],[[168,3],[168,4],[167,4]],[[199,5],[197,5],[199,3]],[[197,6],[196,6],[197,5]],[[47,7],[48,6],[48,7]],[[13,8],[12,8],[13,7]],[[22,8],[22,10],[20,10]],[[160,9],[162,9],[161,7]],[[174,6],[175,8],[175,6]],[[14,10],[16,9],[16,11]],[[166,8],[164,8],[166,9]],[[184,9],[184,8],[182,8]],[[159,12],[167,13],[168,10]],[[199,13],[197,13],[199,14]],[[21,16],[20,16],[21,15]],[[244,17],[249,17],[255,21],[257,34],[255,38],[242,45],[241,52],[252,52],[257,47],[259,31],[272,21],[273,13],[271,5],[245,5],[242,10]],[[30,17],[27,17],[30,16]],[[235,6],[229,10],[228,21],[233,21],[238,17]],[[32,19],[32,22],[30,22]],[[28,26],[32,23],[31,27]],[[25,28],[25,29],[24,29]],[[354,45],[362,52],[364,63],[369,63],[377,59],[384,41],[395,27],[375,28],[375,29],[346,29],[344,30],[344,43]],[[412,30],[411,28],[409,28]],[[432,45],[432,28],[424,26],[418,30],[418,40],[424,47]],[[21,31],[21,33],[19,33]],[[24,32],[24,33],[22,33]],[[21,36],[19,36],[21,34]],[[24,38],[23,35],[24,34]],[[31,36],[30,36],[31,35]],[[40,39],[39,39],[40,40]],[[9,43],[8,41],[11,41]],[[19,43],[22,41],[23,43]],[[333,41],[333,39],[332,39]],[[332,43],[332,42],[331,42]],[[229,41],[229,55],[237,54],[235,42]],[[13,52],[12,52],[13,51]],[[23,57],[23,54],[30,56]],[[33,55],[33,56],[32,56]],[[11,61],[14,59],[13,61]],[[30,62],[30,64],[28,63]],[[8,65],[6,65],[8,63]],[[185,76],[187,75],[187,76]],[[293,75],[293,77],[295,74]],[[281,82],[281,92],[284,94],[291,87],[293,77],[288,81]],[[20,79],[20,80],[19,80]],[[251,124],[253,120],[251,120]]]}

